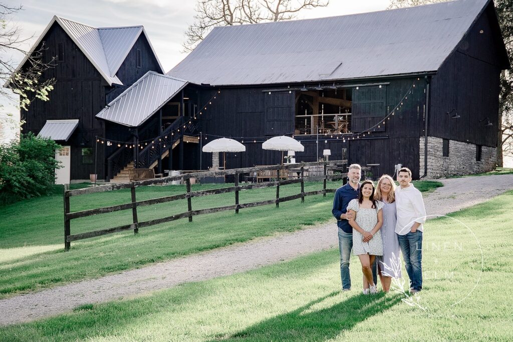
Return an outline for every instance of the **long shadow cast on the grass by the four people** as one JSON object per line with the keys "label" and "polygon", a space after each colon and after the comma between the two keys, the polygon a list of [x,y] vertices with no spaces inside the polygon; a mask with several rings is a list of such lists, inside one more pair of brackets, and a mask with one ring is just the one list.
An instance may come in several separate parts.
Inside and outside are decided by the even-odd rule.
{"label": "long shadow cast on the grass by the four people", "polygon": [[328,308],[314,310],[322,301],[338,294],[313,300],[297,310],[272,317],[232,335],[218,335],[214,341],[306,341],[328,340],[352,329],[367,318],[400,303],[398,295],[378,293],[352,296]]}

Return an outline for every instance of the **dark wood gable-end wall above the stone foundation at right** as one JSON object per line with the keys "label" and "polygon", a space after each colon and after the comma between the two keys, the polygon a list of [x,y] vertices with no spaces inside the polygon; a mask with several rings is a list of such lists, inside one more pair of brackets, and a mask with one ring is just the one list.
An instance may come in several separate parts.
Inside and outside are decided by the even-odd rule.
{"label": "dark wood gable-end wall above the stone foundation at right", "polygon": [[[505,62],[491,10],[478,18],[432,77],[430,136],[497,146],[499,77]],[[452,110],[460,117],[446,114]],[[492,126],[484,126],[486,118]]]}

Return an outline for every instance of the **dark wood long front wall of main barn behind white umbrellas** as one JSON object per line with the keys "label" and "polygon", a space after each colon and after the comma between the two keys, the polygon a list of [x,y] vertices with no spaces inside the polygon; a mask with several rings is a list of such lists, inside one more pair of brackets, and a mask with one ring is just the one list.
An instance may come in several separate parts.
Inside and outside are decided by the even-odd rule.
{"label": "dark wood long front wall of main barn behind white umbrellas", "polygon": [[[413,176],[418,178],[419,136],[423,134],[424,128],[426,81],[424,78],[409,77],[390,79],[385,83],[382,88],[360,86],[358,90],[353,90],[358,92],[359,104],[381,102],[374,107],[379,112],[369,109],[369,106],[353,108],[352,119],[360,120],[358,131],[362,134],[359,138],[355,136],[356,139],[353,140],[346,136],[344,142],[343,135],[339,135],[338,139],[336,135],[320,135],[318,144],[314,135],[295,136],[305,146],[304,152],[296,153],[296,161],[312,162],[318,156],[322,158],[324,149],[330,149],[331,160],[349,158],[349,163],[359,163],[362,166],[380,164],[372,170],[376,175],[393,173],[393,166],[400,163],[409,167]],[[412,87],[414,83],[415,87]],[[375,91],[374,88],[379,90]],[[204,136],[202,144],[207,144],[216,136],[233,137],[241,142],[244,140],[246,152],[226,154],[227,168],[281,163],[282,153],[263,150],[262,143],[275,135],[293,134],[295,92],[277,91],[269,94],[263,90],[262,87],[222,88],[211,105],[208,100],[217,90],[201,91],[200,103],[207,105],[207,110],[199,115],[202,132],[207,134],[207,139]],[[381,123],[386,114],[401,102],[401,108],[390,119],[385,119],[385,125],[380,124],[380,128],[375,127],[370,135],[366,133],[366,137],[363,137],[364,131]],[[372,121],[367,122],[367,118]],[[194,168],[199,169],[199,155],[189,157],[195,159]],[[211,166],[211,158],[211,153],[202,153],[203,169]]]}

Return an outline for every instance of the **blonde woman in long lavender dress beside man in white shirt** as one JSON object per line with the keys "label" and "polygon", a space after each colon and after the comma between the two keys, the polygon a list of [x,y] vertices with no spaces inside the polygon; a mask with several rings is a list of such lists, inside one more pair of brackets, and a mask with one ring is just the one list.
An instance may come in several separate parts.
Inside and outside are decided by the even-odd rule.
{"label": "blonde woman in long lavender dress beside man in white shirt", "polygon": [[396,234],[396,184],[387,174],[381,176],[376,187],[376,199],[383,202],[383,227],[381,239],[383,241],[383,256],[377,256],[378,274],[383,291],[390,290],[392,277],[401,277],[401,261],[399,253],[399,240]]}

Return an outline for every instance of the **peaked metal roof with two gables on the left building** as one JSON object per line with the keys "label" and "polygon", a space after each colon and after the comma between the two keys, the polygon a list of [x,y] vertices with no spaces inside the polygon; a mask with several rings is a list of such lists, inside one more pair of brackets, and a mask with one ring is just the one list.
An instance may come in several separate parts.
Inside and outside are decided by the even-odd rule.
{"label": "peaked metal roof with two gables on the left building", "polygon": [[[116,72],[141,34],[145,35],[153,55],[164,72],[159,58],[157,58],[151,46],[150,39],[142,26],[94,28],[54,15],[37,39],[37,42],[33,45],[32,51],[40,44],[55,22],[64,29],[72,41],[86,55],[98,72],[105,78],[109,86],[112,84],[123,85],[120,79],[117,78]],[[27,58],[25,57],[22,63],[19,64],[18,70],[25,64]]]}

